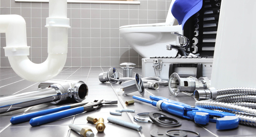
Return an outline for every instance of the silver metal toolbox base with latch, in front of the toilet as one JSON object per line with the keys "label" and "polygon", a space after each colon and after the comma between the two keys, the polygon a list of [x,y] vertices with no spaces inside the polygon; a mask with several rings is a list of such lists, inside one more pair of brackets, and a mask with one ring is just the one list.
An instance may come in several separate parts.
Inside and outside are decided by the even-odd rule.
{"label": "silver metal toolbox base with latch, in front of the toilet", "polygon": [[142,58],[142,77],[159,76],[169,80],[172,73],[180,77],[211,79],[212,57],[152,57]]}

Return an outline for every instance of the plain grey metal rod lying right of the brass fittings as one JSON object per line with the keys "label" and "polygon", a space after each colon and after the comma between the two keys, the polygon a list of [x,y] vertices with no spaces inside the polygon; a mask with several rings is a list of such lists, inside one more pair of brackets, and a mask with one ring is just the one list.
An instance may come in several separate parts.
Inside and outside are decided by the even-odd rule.
{"label": "plain grey metal rod lying right of the brass fittings", "polygon": [[137,130],[137,131],[142,130],[142,126],[136,125],[136,124],[133,124],[133,123],[130,123],[130,122],[126,122],[126,121],[123,121],[123,120],[120,120],[120,119],[108,117],[108,121],[112,122],[112,123],[115,123],[115,124],[118,124],[118,125],[121,125],[121,126],[125,126],[127,128],[130,128],[130,129]]}

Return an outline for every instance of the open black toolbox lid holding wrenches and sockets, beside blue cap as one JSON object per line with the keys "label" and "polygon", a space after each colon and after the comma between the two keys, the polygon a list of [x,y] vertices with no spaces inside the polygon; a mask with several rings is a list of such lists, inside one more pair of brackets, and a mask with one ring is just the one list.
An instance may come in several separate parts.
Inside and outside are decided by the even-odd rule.
{"label": "open black toolbox lid holding wrenches and sockets, beside blue cap", "polygon": [[202,8],[184,24],[184,36],[189,38],[189,52],[213,56],[217,36],[221,0],[203,0]]}

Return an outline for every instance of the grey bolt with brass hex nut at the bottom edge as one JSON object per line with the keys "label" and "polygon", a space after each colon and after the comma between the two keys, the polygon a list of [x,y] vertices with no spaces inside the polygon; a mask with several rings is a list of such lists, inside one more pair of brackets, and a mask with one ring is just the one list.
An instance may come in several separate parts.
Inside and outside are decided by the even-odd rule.
{"label": "grey bolt with brass hex nut at the bottom edge", "polygon": [[94,133],[90,128],[82,128],[80,126],[69,124],[69,128],[80,133],[83,137],[94,137]]}

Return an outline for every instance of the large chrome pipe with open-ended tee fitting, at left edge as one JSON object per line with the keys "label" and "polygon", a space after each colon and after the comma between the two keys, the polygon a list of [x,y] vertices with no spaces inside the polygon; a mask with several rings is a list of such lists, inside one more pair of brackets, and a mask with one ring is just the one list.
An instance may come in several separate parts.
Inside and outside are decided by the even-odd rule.
{"label": "large chrome pipe with open-ended tee fitting, at left edge", "polygon": [[67,100],[82,102],[87,95],[88,87],[83,81],[60,81],[60,83],[46,81],[40,83],[36,91],[1,97],[0,114],[48,102],[52,104]]}

